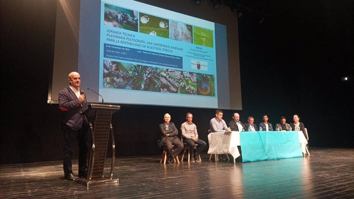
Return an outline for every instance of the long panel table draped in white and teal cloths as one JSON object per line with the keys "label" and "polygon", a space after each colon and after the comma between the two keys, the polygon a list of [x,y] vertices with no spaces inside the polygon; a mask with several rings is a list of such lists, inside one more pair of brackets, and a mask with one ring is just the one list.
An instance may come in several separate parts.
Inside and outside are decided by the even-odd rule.
{"label": "long panel table draped in white and teal cloths", "polygon": [[302,131],[231,131],[209,133],[209,154],[240,156],[242,162],[301,157],[306,154],[307,140]]}

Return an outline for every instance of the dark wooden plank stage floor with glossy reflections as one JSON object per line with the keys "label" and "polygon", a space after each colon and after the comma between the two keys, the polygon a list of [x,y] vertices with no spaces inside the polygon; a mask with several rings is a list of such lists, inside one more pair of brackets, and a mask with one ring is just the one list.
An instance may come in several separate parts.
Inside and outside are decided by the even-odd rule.
{"label": "dark wooden plank stage floor with glossy reflections", "polygon": [[0,198],[354,198],[354,149],[309,150],[236,164],[208,161],[208,154],[171,165],[160,164],[160,155],[116,157],[119,184],[89,188],[64,180],[61,161],[0,165]]}

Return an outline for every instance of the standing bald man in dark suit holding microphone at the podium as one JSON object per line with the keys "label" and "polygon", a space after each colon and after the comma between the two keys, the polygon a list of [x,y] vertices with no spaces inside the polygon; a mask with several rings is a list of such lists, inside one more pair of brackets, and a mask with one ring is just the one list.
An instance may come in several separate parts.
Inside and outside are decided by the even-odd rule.
{"label": "standing bald man in dark suit holding microphone at the podium", "polygon": [[59,92],[59,108],[63,112],[64,132],[63,169],[67,180],[77,178],[72,172],[74,142],[78,144],[78,176],[87,175],[89,124],[83,113],[88,109],[84,91],[80,90],[81,77],[77,72],[68,75],[69,85]]}

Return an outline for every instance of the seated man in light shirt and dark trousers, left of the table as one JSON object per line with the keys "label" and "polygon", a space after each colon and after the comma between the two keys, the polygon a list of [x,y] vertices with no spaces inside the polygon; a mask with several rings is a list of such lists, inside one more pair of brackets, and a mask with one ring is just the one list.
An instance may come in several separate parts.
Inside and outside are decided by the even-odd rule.
{"label": "seated man in light shirt and dark trousers, left of the table", "polygon": [[[189,156],[190,156],[189,161],[194,162],[194,158],[195,158],[195,161],[199,162],[201,161],[199,159],[199,154],[206,147],[206,143],[198,138],[198,131],[196,131],[195,124],[192,123],[193,120],[192,113],[187,113],[186,120],[187,121],[181,125],[183,142],[189,145]],[[195,144],[198,144],[199,146],[197,150],[194,152],[194,158],[193,158],[193,150]]]}

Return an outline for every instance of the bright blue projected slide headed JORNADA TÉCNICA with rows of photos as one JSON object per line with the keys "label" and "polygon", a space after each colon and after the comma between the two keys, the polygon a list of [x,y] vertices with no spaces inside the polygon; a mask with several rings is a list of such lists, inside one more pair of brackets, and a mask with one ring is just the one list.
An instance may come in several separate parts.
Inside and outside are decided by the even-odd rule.
{"label": "bright blue projected slide headed JORNADA T\u00c9CNICA with rows of photos", "polygon": [[219,107],[218,71],[228,66],[218,65],[217,49],[227,54],[225,26],[129,0],[101,1],[100,16],[105,102]]}

